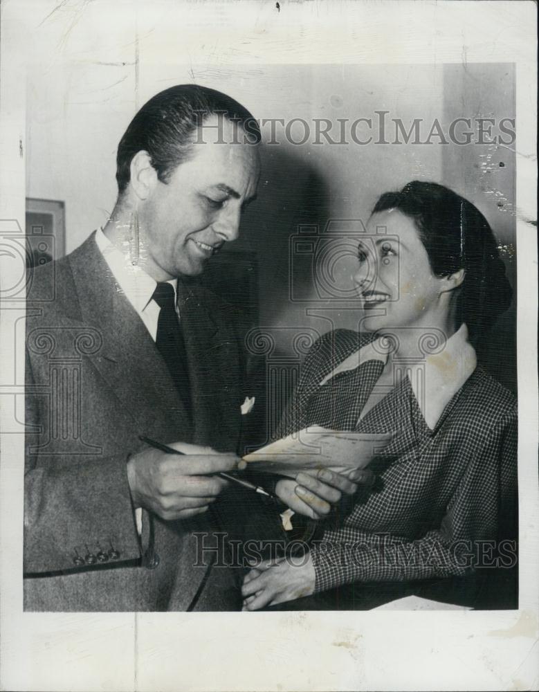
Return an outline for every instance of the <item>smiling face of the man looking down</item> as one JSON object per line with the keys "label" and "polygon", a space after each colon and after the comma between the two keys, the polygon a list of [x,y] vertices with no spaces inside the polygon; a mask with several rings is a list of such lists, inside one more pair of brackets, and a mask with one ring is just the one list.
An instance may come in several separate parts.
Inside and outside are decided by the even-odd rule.
{"label": "smiling face of the man looking down", "polygon": [[[205,260],[239,233],[241,212],[256,193],[257,147],[244,143],[230,120],[205,121],[201,143],[192,145],[167,183],[157,181],[138,208],[140,257],[156,281],[196,276]],[[203,142],[203,143],[202,143]]]}

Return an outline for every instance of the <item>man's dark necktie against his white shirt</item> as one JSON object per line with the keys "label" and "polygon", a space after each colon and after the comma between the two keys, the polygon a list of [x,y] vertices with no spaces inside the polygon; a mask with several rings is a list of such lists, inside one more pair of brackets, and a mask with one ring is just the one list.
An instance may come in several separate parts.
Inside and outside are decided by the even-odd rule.
{"label": "man's dark necktie against his white shirt", "polygon": [[172,375],[185,411],[192,418],[189,371],[185,343],[174,301],[174,288],[166,282],[157,284],[152,298],[161,308],[157,322],[156,347]]}

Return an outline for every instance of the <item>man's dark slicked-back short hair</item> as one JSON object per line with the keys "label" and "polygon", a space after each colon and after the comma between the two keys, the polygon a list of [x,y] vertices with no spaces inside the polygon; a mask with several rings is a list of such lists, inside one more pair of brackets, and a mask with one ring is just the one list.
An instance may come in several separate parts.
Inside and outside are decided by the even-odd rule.
{"label": "man's dark slicked-back short hair", "polygon": [[241,126],[245,134],[242,141],[259,143],[257,121],[230,96],[197,84],[171,86],[143,105],[120,140],[116,156],[119,194],[127,188],[131,161],[140,151],[148,152],[158,179],[166,183],[176,167],[188,161],[194,131],[212,114]]}

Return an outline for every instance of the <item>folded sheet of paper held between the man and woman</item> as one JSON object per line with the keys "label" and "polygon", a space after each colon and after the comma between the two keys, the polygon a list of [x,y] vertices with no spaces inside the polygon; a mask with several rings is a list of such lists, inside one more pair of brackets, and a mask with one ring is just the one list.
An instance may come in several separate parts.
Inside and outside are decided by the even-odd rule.
{"label": "folded sheet of paper held between the man and woman", "polygon": [[295,477],[299,471],[331,468],[339,473],[364,468],[390,441],[391,435],[304,428],[244,457],[257,471]]}

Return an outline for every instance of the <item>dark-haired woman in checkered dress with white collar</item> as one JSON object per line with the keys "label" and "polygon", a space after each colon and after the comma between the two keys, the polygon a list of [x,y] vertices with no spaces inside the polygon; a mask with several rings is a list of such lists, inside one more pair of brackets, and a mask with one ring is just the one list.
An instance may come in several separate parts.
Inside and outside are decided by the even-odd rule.
{"label": "dark-haired woman in checkered dress with white collar", "polygon": [[[369,466],[374,486],[323,522],[304,558],[249,572],[245,610],[464,576],[486,563],[485,542],[515,536],[516,402],[473,347],[511,302],[486,219],[435,183],[383,194],[353,278],[360,333],[312,347],[280,432],[317,424],[392,441]],[[498,564],[511,563],[511,545]]]}

